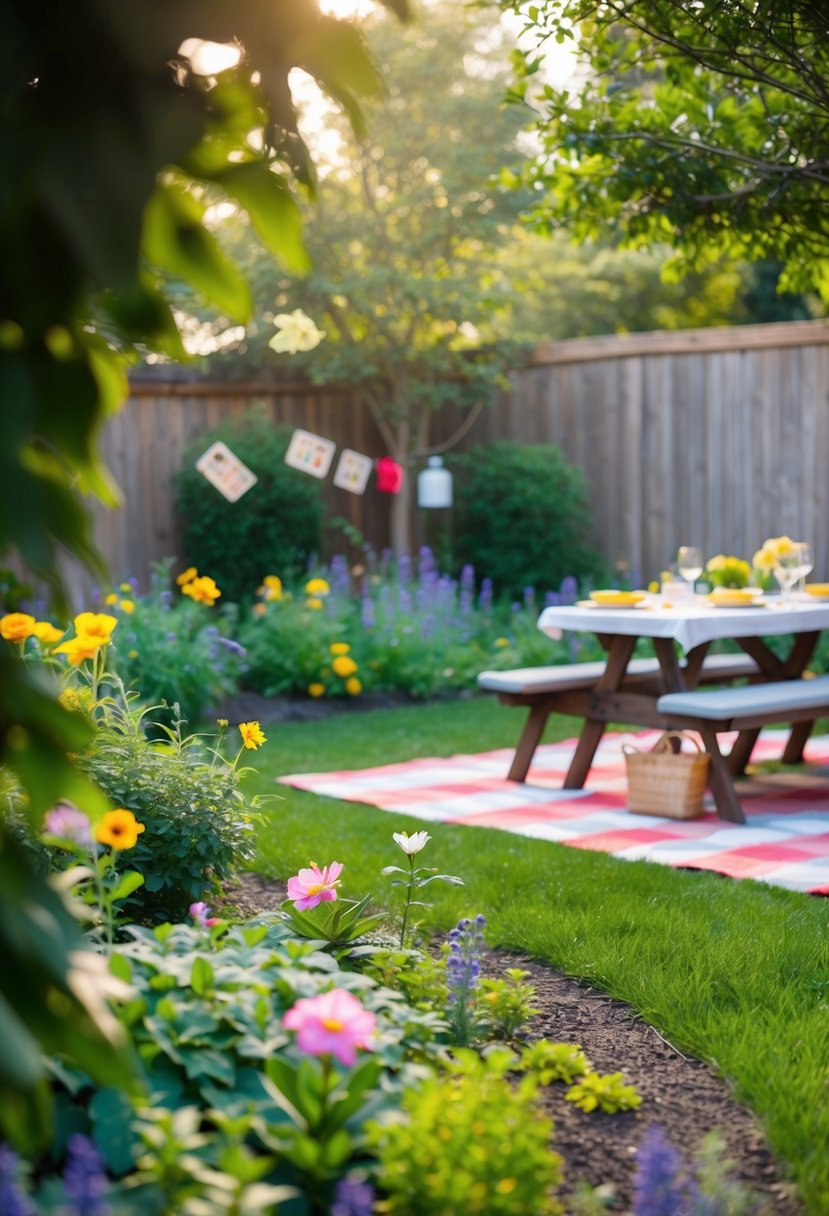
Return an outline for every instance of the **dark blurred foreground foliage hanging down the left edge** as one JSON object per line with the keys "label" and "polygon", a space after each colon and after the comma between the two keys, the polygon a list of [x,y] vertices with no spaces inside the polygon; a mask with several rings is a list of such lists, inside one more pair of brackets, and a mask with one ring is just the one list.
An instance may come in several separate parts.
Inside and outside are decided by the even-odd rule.
{"label": "dark blurred foreground foliage hanging down the left edge", "polygon": [[[405,13],[406,0],[384,2]],[[198,40],[233,44],[236,62],[197,69]],[[184,354],[162,274],[250,315],[203,225],[208,185],[303,269],[292,184],[314,174],[288,72],[305,68],[355,122],[356,94],[380,81],[357,28],[312,0],[0,0],[0,552],[19,551],[60,593],[61,550],[101,564],[79,491],[117,500],[96,433],[126,396],[126,362]],[[4,646],[0,760],[35,822],[58,799],[103,805],[68,760],[86,737]],[[18,1143],[43,1133],[39,1043],[98,1079],[125,1076],[79,941],[0,823],[0,956],[13,961],[0,973],[0,1126]]]}

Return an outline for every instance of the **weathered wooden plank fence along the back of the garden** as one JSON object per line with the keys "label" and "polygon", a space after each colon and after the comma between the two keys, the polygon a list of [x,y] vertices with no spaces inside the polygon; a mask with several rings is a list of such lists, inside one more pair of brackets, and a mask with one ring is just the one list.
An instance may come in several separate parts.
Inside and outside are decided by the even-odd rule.
{"label": "weathered wooden plank fence along the back of the garden", "polygon": [[[338,447],[383,454],[373,423],[345,389],[159,372],[134,381],[103,437],[124,506],[94,508],[95,534],[117,579],[146,579],[151,562],[186,556],[173,492],[181,454],[254,401],[275,422],[327,435]],[[512,376],[463,445],[498,439],[558,444],[583,469],[596,544],[637,581],[662,569],[679,544],[701,545],[707,556],[750,557],[780,533],[811,540],[814,576],[829,578],[828,323],[551,343]],[[357,497],[331,480],[326,495],[331,517],[376,547],[387,544],[387,496],[370,489]],[[337,541],[334,531],[329,547]],[[83,599],[84,578],[75,572],[72,582],[73,598]]]}

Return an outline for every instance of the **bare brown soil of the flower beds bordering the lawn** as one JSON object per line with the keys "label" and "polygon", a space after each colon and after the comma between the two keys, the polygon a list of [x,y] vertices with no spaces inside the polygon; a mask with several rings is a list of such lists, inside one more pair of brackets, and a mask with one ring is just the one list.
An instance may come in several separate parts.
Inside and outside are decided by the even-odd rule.
{"label": "bare brown soil of the flower beds bordering the lawn", "polygon": [[[399,698],[379,700],[384,706],[400,704]],[[232,713],[233,720],[258,720],[265,725],[314,720],[331,713],[335,704],[328,702],[323,708],[316,702],[244,697],[221,713],[227,717]],[[361,708],[380,706],[376,702],[361,703]],[[339,706],[334,709],[338,710]],[[242,917],[258,916],[276,910],[284,895],[283,884],[259,874],[243,874],[226,891],[227,911]],[[596,1071],[621,1071],[642,1097],[637,1111],[604,1115],[587,1114],[565,1102],[560,1085],[543,1091],[545,1114],[553,1120],[552,1147],[564,1160],[560,1198],[565,1207],[568,1193],[583,1180],[611,1188],[614,1199],[608,1212],[628,1210],[637,1147],[648,1126],[659,1124],[686,1158],[716,1128],[738,1176],[766,1197],[776,1216],[801,1216],[794,1188],[777,1169],[757,1121],[734,1099],[726,1080],[673,1047],[628,1006],[586,983],[508,951],[490,952],[483,964],[484,974],[491,976],[511,967],[529,972],[528,981],[536,992],[538,1013],[532,1018],[528,1038],[579,1043]]]}

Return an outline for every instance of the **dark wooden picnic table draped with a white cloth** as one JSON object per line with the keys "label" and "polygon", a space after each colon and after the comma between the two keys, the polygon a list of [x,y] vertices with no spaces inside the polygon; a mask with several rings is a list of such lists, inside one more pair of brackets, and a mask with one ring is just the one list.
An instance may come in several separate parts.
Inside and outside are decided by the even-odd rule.
{"label": "dark wooden picnic table draped with a white cloth", "polygon": [[[704,663],[714,642],[729,640],[756,664],[751,680],[757,683],[802,681],[807,664],[814,653],[822,630],[829,627],[829,602],[793,601],[779,604],[773,597],[757,604],[722,608],[701,596],[689,596],[687,601],[675,601],[662,607],[659,597],[649,597],[630,608],[608,608],[593,603],[546,608],[538,619],[542,632],[560,637],[562,631],[593,634],[605,651],[604,666],[590,687],[563,688],[546,702],[547,713],[573,714],[583,719],[576,749],[564,779],[566,789],[580,789],[585,784],[596,749],[609,722],[635,726],[661,727],[677,725],[701,726],[706,749],[712,753],[711,788],[722,818],[743,821],[739,803],[733,790],[732,777],[743,772],[762,721],[793,721],[783,760],[799,764],[808,739],[817,710],[802,705],[790,708],[791,697],[783,698],[786,710],[774,717],[776,699],[765,692],[755,713],[746,713],[743,697],[740,713],[723,713],[716,704],[716,694],[697,693],[697,698],[671,703],[670,694],[694,692],[704,671]],[[768,644],[773,636],[791,636],[786,653],[779,657]],[[628,677],[637,660],[633,654],[637,643],[647,641],[658,660],[658,670],[650,679]],[[678,652],[682,651],[683,654]],[[641,660],[639,660],[641,662]],[[820,681],[823,685],[823,681]],[[790,685],[786,692],[791,692]],[[818,686],[814,687],[818,693]],[[715,708],[706,709],[701,698],[715,697]],[[755,698],[757,694],[750,694]],[[822,692],[825,698],[825,691]],[[665,699],[662,699],[665,698]],[[797,698],[795,698],[797,699]],[[779,700],[779,698],[778,698]],[[801,698],[802,700],[802,698]],[[810,698],[810,706],[819,697]],[[661,705],[660,705],[661,702]],[[672,708],[667,708],[672,706]],[[714,714],[714,726],[706,728],[706,714]],[[790,716],[785,716],[790,714]],[[811,716],[810,716],[811,714]],[[537,731],[537,722],[535,728]],[[735,727],[739,733],[724,760],[716,745],[717,730]],[[538,734],[540,738],[540,734]],[[529,764],[529,761],[528,761]]]}

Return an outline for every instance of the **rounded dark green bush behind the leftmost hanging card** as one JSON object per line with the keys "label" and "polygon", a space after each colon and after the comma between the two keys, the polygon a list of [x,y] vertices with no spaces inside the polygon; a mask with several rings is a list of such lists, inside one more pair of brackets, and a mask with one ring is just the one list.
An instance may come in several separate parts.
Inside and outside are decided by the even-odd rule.
{"label": "rounded dark green bush behind the leftmost hanging card", "polygon": [[[295,574],[320,547],[321,486],[284,463],[292,433],[253,410],[201,435],[184,454],[176,510],[184,520],[186,561],[209,570],[226,599],[250,597],[269,569]],[[229,502],[196,469],[215,440],[256,474],[256,484],[237,502]]]}

